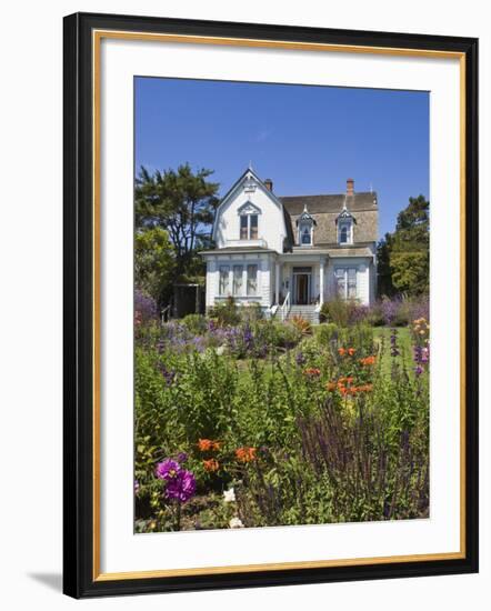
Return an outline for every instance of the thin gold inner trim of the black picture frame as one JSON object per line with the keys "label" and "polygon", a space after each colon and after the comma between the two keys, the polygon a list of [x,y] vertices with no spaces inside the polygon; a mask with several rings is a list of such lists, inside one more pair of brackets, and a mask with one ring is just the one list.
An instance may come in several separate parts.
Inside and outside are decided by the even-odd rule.
{"label": "thin gold inner trim of the black picture frame", "polygon": [[[458,59],[460,68],[460,550],[457,552],[389,555],[373,558],[348,558],[334,560],[314,560],[300,562],[277,562],[261,564],[238,564],[226,567],[198,567],[187,569],[167,569],[152,571],[129,571],[102,573],[100,564],[100,118],[101,118],[101,41],[102,39],[138,40],[149,42],[173,42],[193,44],[214,44],[226,47],[258,47],[264,49],[285,49],[338,53],[369,53],[392,57]],[[300,41],[272,41],[261,39],[207,37],[187,34],[164,34],[151,32],[128,32],[120,30],[92,31],[92,103],[93,103],[93,541],[92,567],[93,581],[114,581],[129,579],[157,579],[166,577],[190,577],[206,574],[230,574],[255,571],[280,571],[293,569],[319,569],[333,567],[360,567],[395,562],[421,562],[435,560],[458,560],[465,558],[465,54],[458,51],[431,49],[404,49],[389,47],[367,47],[355,44],[329,44]]]}

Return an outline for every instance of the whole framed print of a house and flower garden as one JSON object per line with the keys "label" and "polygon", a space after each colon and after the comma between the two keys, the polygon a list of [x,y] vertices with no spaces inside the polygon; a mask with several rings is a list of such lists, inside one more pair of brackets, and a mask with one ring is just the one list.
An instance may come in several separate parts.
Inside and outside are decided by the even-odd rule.
{"label": "whole framed print of a house and flower garden", "polygon": [[478,570],[477,74],[64,19],[67,594]]}

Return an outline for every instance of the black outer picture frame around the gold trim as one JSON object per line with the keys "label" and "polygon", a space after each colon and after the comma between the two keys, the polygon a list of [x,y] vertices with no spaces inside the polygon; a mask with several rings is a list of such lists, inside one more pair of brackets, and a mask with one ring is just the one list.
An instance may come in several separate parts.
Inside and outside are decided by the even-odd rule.
{"label": "black outer picture frame around the gold trim", "polygon": [[[116,14],[64,18],[63,591],[74,598],[371,580],[478,571],[478,40]],[[453,560],[100,580],[93,544],[94,30],[300,41],[461,53],[465,63],[465,553]],[[97,551],[97,550],[96,550]]]}

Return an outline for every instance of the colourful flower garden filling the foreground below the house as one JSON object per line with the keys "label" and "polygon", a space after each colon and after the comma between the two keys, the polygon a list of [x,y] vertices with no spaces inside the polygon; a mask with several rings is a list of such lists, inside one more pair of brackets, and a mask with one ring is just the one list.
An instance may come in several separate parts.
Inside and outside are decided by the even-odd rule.
{"label": "colourful flower garden filling the foreground below the house", "polygon": [[395,327],[402,301],[390,328],[364,312],[308,335],[254,315],[141,318],[137,531],[427,517],[430,324]]}

